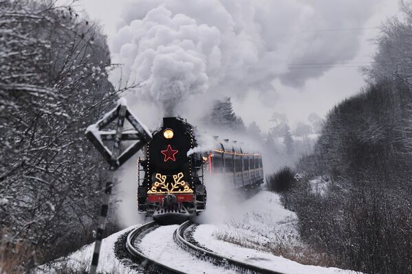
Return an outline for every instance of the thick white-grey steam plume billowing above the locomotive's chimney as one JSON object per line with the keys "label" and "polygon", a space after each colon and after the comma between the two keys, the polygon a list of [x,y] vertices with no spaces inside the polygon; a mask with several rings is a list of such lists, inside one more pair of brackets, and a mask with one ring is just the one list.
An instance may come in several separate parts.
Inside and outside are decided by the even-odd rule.
{"label": "thick white-grey steam plume billowing above the locomotive's chimney", "polygon": [[353,58],[360,30],[327,38],[307,30],[362,26],[376,2],[135,0],[113,38],[113,61],[124,64],[123,81],[142,84],[140,98],[176,115],[191,95],[267,94],[273,81],[299,86],[327,70],[290,64]]}

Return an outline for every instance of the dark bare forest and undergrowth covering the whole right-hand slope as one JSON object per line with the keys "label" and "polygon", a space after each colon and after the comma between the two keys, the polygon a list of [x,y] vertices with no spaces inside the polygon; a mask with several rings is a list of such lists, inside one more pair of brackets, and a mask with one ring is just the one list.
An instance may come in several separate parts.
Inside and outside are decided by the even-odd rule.
{"label": "dark bare forest and undergrowth covering the whole right-hand slope", "polygon": [[303,179],[268,178],[330,266],[412,271],[411,6],[402,12],[382,25],[367,87],[329,111],[314,152],[296,164]]}

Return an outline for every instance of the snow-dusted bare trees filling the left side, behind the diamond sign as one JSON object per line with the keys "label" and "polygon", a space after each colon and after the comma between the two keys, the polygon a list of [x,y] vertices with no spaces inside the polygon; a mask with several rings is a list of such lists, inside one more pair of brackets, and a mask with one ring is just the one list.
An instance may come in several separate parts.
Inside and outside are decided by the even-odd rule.
{"label": "snow-dusted bare trees filling the left side, behind the diamond sign", "polygon": [[0,245],[28,267],[89,240],[107,170],[85,128],[120,92],[98,25],[54,2],[0,1]]}

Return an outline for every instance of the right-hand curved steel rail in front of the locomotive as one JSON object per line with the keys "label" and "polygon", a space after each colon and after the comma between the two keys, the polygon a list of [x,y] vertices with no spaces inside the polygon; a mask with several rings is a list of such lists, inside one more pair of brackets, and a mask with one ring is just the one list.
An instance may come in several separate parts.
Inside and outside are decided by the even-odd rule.
{"label": "right-hand curved steel rail in front of the locomotive", "polygon": [[180,225],[178,229],[175,230],[173,238],[175,239],[175,242],[177,242],[177,244],[180,245],[180,247],[196,255],[197,257],[207,258],[213,264],[224,267],[230,267],[232,269],[238,270],[241,273],[282,274],[277,271],[272,271],[270,269],[263,269],[259,266],[254,266],[246,262],[239,262],[237,260],[233,260],[223,255],[214,253],[213,251],[203,249],[202,247],[197,247],[195,244],[188,242],[188,240],[184,238],[184,231],[188,229],[188,227],[191,227],[191,225],[194,225],[194,223],[190,220],[184,222],[182,225]]}

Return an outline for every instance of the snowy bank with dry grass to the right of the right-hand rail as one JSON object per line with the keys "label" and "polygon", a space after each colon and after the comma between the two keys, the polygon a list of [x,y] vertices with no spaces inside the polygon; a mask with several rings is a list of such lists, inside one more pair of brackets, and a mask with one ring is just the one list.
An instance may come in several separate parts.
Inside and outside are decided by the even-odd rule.
{"label": "snowy bank with dry grass to the right of the right-hand rail", "polygon": [[[283,208],[277,194],[263,191],[243,203],[241,210],[234,211],[232,218],[227,220],[226,224],[199,225],[193,233],[193,238],[202,246],[220,255],[285,274],[356,273],[299,264],[264,251],[269,251],[270,246],[277,247],[277,245],[304,247],[299,241],[295,228],[296,221],[296,214]],[[225,241],[219,240],[222,238]]]}

